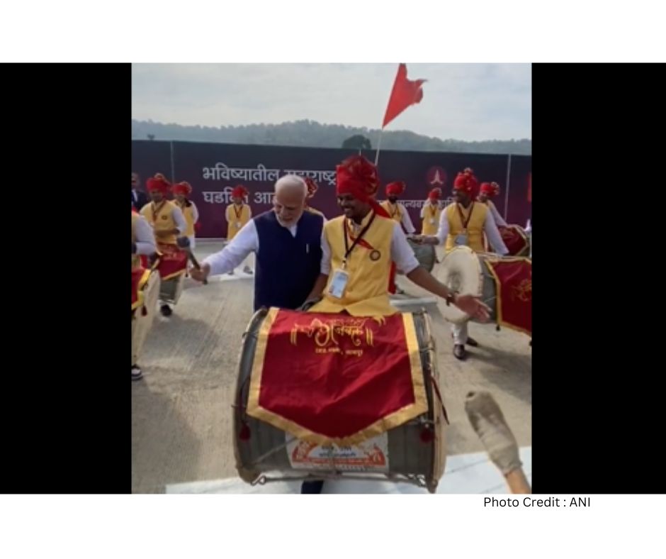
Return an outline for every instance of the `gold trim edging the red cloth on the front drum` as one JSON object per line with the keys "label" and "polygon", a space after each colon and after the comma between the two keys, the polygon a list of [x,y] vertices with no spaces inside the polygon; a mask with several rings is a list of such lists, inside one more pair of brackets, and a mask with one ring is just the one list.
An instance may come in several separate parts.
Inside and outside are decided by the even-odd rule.
{"label": "gold trim edging the red cloth on the front drum", "polygon": [[250,376],[249,394],[247,397],[247,414],[261,421],[282,429],[298,439],[318,445],[335,444],[338,446],[356,445],[366,441],[368,438],[393,429],[404,424],[414,417],[425,414],[428,411],[428,399],[424,386],[423,370],[421,368],[421,357],[419,353],[419,341],[414,328],[414,318],[411,313],[402,314],[402,322],[405,325],[405,338],[407,340],[407,351],[410,354],[410,369],[412,371],[412,385],[414,387],[414,403],[404,406],[393,414],[375,421],[366,428],[347,437],[328,437],[321,433],[310,431],[294,421],[274,414],[272,411],[259,405],[259,392],[261,391],[261,372],[264,370],[264,358],[266,356],[266,345],[268,344],[271,326],[278,314],[279,309],[271,308],[259,328],[259,337],[256,342],[256,354],[252,365]]}

